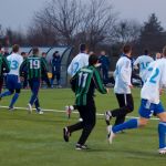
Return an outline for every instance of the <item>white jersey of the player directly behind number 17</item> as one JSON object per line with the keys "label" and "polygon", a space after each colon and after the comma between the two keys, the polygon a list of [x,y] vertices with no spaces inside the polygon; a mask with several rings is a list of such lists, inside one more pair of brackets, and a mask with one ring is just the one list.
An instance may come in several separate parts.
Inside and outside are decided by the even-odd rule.
{"label": "white jersey of the player directly behind number 17", "polygon": [[68,73],[73,76],[80,69],[89,65],[89,54],[79,53],[68,68]]}

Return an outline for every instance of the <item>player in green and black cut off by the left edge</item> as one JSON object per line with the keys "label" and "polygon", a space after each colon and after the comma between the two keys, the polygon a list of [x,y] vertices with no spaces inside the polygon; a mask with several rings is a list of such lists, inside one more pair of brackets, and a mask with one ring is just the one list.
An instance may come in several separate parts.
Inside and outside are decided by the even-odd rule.
{"label": "player in green and black cut off by the left edge", "polygon": [[0,93],[3,86],[3,73],[9,73],[10,68],[7,59],[2,55],[2,46],[0,45]]}

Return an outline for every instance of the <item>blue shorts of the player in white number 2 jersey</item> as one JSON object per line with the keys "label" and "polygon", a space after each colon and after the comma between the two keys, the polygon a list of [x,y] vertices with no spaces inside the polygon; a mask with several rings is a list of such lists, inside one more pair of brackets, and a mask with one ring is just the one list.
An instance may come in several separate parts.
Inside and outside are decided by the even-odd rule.
{"label": "blue shorts of the player in white number 2 jersey", "polygon": [[165,110],[160,102],[158,104],[154,104],[149,103],[149,101],[147,100],[142,98],[142,103],[138,111],[142,117],[151,118],[153,114],[160,114],[163,112],[165,112]]}

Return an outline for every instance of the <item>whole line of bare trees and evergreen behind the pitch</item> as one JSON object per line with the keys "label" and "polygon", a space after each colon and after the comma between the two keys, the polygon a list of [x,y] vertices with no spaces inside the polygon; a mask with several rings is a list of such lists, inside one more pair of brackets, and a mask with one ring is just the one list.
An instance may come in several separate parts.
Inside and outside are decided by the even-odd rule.
{"label": "whole line of bare trees and evergreen behind the pitch", "polygon": [[[166,44],[166,31],[155,13],[146,22],[120,20],[110,0],[52,0],[37,11],[27,33],[3,29],[0,37],[12,45],[74,45],[86,43],[90,50],[120,53],[124,43],[131,43],[135,53],[149,49],[158,52]],[[1,40],[2,41],[2,40]]]}

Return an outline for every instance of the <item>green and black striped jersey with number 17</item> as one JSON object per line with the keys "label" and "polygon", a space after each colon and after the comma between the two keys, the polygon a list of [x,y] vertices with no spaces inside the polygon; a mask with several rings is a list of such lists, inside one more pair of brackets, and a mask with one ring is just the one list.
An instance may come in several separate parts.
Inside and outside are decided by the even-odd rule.
{"label": "green and black striped jersey with number 17", "polygon": [[73,80],[75,80],[75,104],[77,106],[86,105],[89,100],[93,98],[95,89],[100,93],[106,94],[101,75],[96,68],[92,65],[81,69],[73,76]]}

